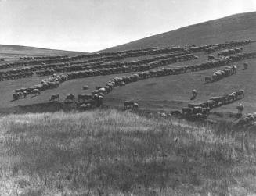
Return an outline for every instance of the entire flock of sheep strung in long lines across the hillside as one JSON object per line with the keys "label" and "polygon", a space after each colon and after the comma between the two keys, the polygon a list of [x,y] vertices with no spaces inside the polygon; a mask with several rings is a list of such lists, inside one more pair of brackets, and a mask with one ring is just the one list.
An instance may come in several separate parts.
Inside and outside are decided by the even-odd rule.
{"label": "entire flock of sheep strung in long lines across the hillside", "polygon": [[[114,87],[122,87],[126,84],[152,77],[164,77],[167,75],[197,72],[221,66],[225,66],[225,68],[216,71],[212,77],[205,77],[206,83],[220,80],[223,77],[229,77],[236,73],[236,66],[232,66],[231,63],[243,59],[256,58],[256,52],[243,52],[243,47],[240,47],[250,43],[250,40],[227,41],[223,44],[204,46],[189,45],[184,48],[145,48],[141,50],[94,53],[73,57],[53,56],[49,58],[23,58],[20,59],[21,62],[5,63],[0,65],[0,69],[21,66],[21,68],[0,72],[0,80],[15,80],[21,77],[41,77],[51,75],[51,77],[41,80],[40,84],[16,89],[13,93],[13,100],[17,100],[20,98],[27,98],[28,94],[37,96],[41,94],[41,91],[59,87],[59,84],[67,80],[110,75],[115,73],[132,73],[130,76],[115,77],[108,81],[105,87],[96,87],[96,90],[93,90],[91,94],[78,94],[78,102],[76,102],[78,109],[89,109],[102,105],[105,95],[113,91]],[[221,52],[218,52],[218,57],[209,55],[208,61],[197,65],[158,68],[175,62],[198,59],[198,57],[191,54],[191,52],[206,52],[209,54],[211,52],[216,52],[217,50],[222,50]],[[154,56],[147,59],[123,61],[128,57],[138,57],[143,55]],[[244,68],[247,68],[247,66],[248,63],[245,62]],[[62,74],[56,75],[56,73]],[[198,105],[189,104],[187,108],[182,109],[182,115],[187,119],[207,119],[207,115],[211,109],[219,107],[220,105],[235,102],[242,98],[243,94],[243,91],[236,91],[221,97],[210,98],[207,102]],[[192,99],[196,97],[197,91],[194,92]],[[59,94],[53,94],[49,101],[56,102],[59,101],[59,99]],[[74,94],[68,94],[65,102],[71,103],[74,102],[74,100]],[[239,111],[242,111],[242,106],[243,105],[238,106],[240,108]],[[124,102],[124,109],[138,108],[139,104],[137,102]]]}

